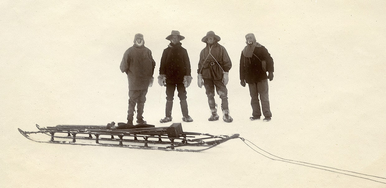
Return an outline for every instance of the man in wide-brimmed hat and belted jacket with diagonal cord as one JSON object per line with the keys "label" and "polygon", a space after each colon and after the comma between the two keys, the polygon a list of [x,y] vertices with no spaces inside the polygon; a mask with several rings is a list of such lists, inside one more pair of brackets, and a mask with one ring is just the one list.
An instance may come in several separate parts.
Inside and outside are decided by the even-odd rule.
{"label": "man in wide-brimmed hat and belted jacket with diagonal cord", "polygon": [[225,122],[232,122],[233,119],[229,115],[228,89],[226,87],[232,62],[230,61],[227,50],[218,44],[220,37],[215,35],[213,31],[208,32],[201,41],[205,42],[207,46],[201,50],[200,61],[198,62],[198,87],[201,88],[202,85],[204,85],[208,96],[208,104],[212,112],[212,116],[210,116],[208,120],[216,121],[219,118],[214,98],[216,89],[217,94],[222,100],[222,119]]}

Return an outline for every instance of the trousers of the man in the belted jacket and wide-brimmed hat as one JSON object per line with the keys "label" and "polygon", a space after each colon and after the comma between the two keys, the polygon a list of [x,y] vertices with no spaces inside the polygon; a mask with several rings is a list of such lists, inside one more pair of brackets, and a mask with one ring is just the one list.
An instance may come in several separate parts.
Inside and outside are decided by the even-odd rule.
{"label": "trousers of the man in the belted jacket and wide-brimmed hat", "polygon": [[215,102],[215,88],[217,91],[218,96],[220,96],[221,101],[221,108],[222,110],[229,110],[228,107],[228,89],[227,87],[222,83],[222,80],[213,80],[213,79],[206,79],[204,78],[204,86],[205,86],[205,93],[208,96],[208,104],[209,108],[216,109],[216,102]]}

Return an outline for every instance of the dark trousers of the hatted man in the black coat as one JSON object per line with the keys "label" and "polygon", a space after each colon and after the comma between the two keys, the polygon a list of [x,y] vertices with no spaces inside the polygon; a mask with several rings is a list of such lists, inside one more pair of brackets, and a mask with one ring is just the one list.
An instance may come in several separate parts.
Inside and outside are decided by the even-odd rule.
{"label": "dark trousers of the hatted man in the black coat", "polygon": [[188,102],[186,102],[186,88],[183,83],[181,84],[169,84],[166,83],[166,117],[171,117],[171,111],[173,109],[173,97],[174,91],[178,91],[179,104],[181,105],[182,116],[188,116]]}

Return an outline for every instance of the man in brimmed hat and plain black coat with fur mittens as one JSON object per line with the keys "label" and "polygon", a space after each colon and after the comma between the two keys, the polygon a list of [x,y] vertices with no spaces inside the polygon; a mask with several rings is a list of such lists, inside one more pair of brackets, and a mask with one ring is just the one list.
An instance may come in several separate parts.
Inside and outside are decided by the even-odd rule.
{"label": "man in brimmed hat and plain black coat with fur mittens", "polygon": [[181,105],[182,121],[191,122],[193,119],[189,116],[188,103],[186,102],[186,87],[189,87],[192,80],[190,61],[188,52],[181,46],[180,42],[185,37],[181,36],[178,31],[173,30],[166,39],[170,40],[170,44],[162,54],[158,76],[159,85],[166,86],[166,116],[159,122],[166,123],[173,119],[171,111],[176,88],[179,104]]}

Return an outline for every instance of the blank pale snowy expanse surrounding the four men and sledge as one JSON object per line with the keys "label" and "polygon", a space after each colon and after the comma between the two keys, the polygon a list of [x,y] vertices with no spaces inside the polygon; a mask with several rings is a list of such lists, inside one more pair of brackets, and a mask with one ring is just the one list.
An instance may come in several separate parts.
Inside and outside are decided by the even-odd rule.
{"label": "blank pale snowy expanse surrounding the four men and sledge", "polygon": [[[271,154],[386,178],[385,3],[335,1],[3,1],[0,3],[0,187],[386,187],[274,161],[233,139],[201,153],[41,144],[25,131],[56,124],[122,122],[127,78],[122,55],[136,33],[156,60],[171,30],[186,39],[192,84],[184,131],[234,134]],[[196,84],[201,38],[221,37],[232,60],[232,123],[209,122]],[[274,59],[273,120],[250,121],[239,84],[245,34]],[[165,87],[149,88],[144,117],[164,117]],[[175,97],[173,122],[181,122]],[[220,100],[217,103],[220,104]],[[171,124],[171,123],[170,123]],[[169,124],[167,124],[169,125]]]}

